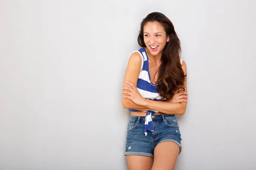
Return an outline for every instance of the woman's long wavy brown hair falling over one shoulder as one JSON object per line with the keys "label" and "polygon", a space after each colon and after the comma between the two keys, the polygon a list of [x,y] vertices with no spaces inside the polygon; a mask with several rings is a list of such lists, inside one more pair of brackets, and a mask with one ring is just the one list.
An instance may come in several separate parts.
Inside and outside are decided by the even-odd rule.
{"label": "woman's long wavy brown hair falling over one shoulder", "polygon": [[184,89],[184,79],[186,75],[180,64],[180,39],[177,37],[172,22],[160,12],[152,12],[145,17],[140,25],[138,43],[141,47],[146,47],[144,43],[143,27],[148,22],[158,22],[162,24],[166,31],[166,36],[170,37],[169,42],[163,48],[161,65],[159,66],[159,77],[157,79],[157,90],[161,97],[171,99],[176,90]]}

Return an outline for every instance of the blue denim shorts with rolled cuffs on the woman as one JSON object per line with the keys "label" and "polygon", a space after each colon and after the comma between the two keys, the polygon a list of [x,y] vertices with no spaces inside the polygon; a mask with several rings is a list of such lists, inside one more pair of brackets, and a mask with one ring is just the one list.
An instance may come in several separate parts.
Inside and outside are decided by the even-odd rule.
{"label": "blue denim shorts with rolled cuffs on the woman", "polygon": [[[127,127],[126,155],[150,156],[153,158],[154,148],[165,141],[175,142],[181,148],[180,130],[175,115],[151,115],[154,132],[144,133],[145,116],[131,116]],[[180,154],[180,153],[179,153]]]}

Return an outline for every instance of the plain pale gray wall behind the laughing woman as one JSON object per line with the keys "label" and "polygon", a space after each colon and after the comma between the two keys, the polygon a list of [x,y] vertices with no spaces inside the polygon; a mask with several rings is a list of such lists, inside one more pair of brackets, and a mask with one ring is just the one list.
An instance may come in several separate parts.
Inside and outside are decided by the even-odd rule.
{"label": "plain pale gray wall behind the laughing woman", "polygon": [[0,169],[126,170],[140,22],[174,23],[189,102],[177,170],[256,169],[256,1],[1,0]]}

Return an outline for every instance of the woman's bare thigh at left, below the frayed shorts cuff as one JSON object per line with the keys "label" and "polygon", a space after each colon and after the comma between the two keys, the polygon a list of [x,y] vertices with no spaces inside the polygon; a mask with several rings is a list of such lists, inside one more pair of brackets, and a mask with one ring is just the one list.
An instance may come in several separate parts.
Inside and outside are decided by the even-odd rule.
{"label": "woman's bare thigh at left, below the frayed shorts cuff", "polygon": [[153,159],[149,156],[127,155],[129,170],[151,170]]}

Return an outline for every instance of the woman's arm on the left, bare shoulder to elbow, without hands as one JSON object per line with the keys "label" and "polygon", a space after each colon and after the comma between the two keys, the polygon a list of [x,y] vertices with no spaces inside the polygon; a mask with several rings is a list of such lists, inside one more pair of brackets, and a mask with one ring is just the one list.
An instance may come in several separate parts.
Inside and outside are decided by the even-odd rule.
{"label": "woman's arm on the left, bare shoulder to elbow, without hands", "polygon": [[[142,64],[142,59],[141,56],[138,52],[134,52],[133,54],[131,54],[129,60],[128,60],[128,64],[127,64],[127,69],[125,72],[125,79],[123,82],[123,88],[124,87],[131,87],[130,85],[128,85],[126,82],[131,82],[134,85],[137,85],[137,81],[139,78],[139,74],[140,74],[140,69],[141,69],[141,64]],[[125,90],[127,91],[127,90]],[[128,96],[126,94],[124,94],[124,96]],[[122,106],[123,108],[128,108],[128,109],[136,109],[139,111],[148,111],[150,110],[148,107],[145,106],[141,106],[141,105],[137,105],[135,104],[133,101],[131,101],[130,99],[126,99],[122,97]]]}

